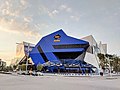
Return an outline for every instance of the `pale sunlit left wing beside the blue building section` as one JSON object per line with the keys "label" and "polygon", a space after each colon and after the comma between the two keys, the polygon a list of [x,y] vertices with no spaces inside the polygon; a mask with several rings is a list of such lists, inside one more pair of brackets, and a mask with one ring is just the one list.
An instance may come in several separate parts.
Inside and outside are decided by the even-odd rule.
{"label": "pale sunlit left wing beside the blue building section", "polygon": [[[16,56],[11,61],[11,65],[17,65],[21,63],[26,63],[27,57],[29,57],[29,52],[35,47],[34,44],[28,42],[17,43],[16,45]],[[30,60],[32,61],[32,60]]]}

